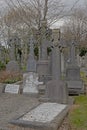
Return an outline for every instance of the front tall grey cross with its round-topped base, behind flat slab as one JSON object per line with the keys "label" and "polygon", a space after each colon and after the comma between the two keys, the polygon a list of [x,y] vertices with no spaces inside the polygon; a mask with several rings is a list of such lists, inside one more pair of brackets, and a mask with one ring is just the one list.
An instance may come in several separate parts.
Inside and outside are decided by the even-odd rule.
{"label": "front tall grey cross with its round-topped base, behind flat slab", "polygon": [[[53,36],[58,36],[57,29],[54,29],[52,33]],[[45,96],[40,100],[58,103],[68,102],[67,84],[61,80],[61,53],[58,38],[54,39],[52,49],[52,80],[47,82]]]}

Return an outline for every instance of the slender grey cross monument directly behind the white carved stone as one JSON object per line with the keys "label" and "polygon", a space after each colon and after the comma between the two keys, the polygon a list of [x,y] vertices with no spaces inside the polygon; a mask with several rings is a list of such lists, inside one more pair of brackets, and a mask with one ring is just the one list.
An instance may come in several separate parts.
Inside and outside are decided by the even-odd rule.
{"label": "slender grey cross monument directly behind the white carved stone", "polygon": [[36,60],[34,59],[34,38],[30,38],[30,52],[27,62],[27,72],[36,72]]}

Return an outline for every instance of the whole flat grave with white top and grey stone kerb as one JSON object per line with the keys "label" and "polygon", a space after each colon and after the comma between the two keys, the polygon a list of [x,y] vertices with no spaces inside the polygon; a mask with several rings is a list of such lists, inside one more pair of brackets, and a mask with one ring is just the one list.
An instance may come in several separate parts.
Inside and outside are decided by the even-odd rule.
{"label": "whole flat grave with white top and grey stone kerb", "polygon": [[12,120],[11,123],[22,128],[33,128],[33,130],[57,130],[67,112],[67,105],[47,102]]}

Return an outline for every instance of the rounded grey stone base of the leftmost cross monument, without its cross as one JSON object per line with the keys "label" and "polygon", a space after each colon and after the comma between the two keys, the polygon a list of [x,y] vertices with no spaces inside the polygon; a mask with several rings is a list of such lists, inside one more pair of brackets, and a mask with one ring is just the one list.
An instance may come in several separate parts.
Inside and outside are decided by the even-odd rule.
{"label": "rounded grey stone base of the leftmost cross monument, without its cross", "polygon": [[10,72],[19,72],[19,65],[16,61],[10,61],[8,62],[8,64],[6,65],[6,71],[10,71]]}

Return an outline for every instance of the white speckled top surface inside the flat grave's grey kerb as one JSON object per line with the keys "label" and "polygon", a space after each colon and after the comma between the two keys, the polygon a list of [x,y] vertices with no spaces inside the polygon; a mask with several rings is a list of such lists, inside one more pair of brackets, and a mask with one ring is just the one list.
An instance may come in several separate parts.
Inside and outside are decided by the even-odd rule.
{"label": "white speckled top surface inside the flat grave's grey kerb", "polygon": [[19,120],[49,123],[52,120],[54,120],[54,118],[58,116],[66,107],[67,105],[64,104],[50,103],[50,102],[43,103],[38,107],[36,107],[35,109],[32,109],[30,112],[25,114]]}

